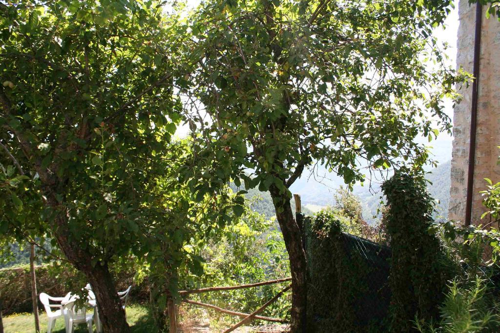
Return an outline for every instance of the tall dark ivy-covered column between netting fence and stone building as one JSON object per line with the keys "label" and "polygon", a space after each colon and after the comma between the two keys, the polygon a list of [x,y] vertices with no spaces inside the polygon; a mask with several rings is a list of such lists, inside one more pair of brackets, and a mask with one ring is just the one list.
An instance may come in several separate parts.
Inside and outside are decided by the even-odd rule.
{"label": "tall dark ivy-covered column between netting fence and stone building", "polygon": [[432,232],[434,201],[422,175],[397,171],[382,185],[386,230],[392,250],[391,332],[409,332],[415,316],[439,318],[446,282],[454,268]]}

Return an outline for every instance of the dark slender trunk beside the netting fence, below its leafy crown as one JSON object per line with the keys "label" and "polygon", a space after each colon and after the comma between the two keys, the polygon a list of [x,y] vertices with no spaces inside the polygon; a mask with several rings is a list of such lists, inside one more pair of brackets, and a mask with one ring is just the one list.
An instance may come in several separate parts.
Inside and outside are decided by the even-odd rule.
{"label": "dark slender trunk beside the netting fence, below its leafy crown", "polygon": [[290,198],[286,194],[280,194],[275,186],[271,186],[269,192],[290,260],[292,290],[290,330],[292,333],[303,333],[306,330],[307,285],[305,252],[301,232],[297,222],[293,218]]}

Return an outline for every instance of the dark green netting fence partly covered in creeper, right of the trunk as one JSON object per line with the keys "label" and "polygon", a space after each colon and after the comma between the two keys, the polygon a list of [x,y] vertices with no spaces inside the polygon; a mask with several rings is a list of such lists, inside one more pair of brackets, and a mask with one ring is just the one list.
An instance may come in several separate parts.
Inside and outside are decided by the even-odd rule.
{"label": "dark green netting fence partly covered in creeper, right of the trunk", "polygon": [[304,220],[308,332],[386,332],[390,249]]}

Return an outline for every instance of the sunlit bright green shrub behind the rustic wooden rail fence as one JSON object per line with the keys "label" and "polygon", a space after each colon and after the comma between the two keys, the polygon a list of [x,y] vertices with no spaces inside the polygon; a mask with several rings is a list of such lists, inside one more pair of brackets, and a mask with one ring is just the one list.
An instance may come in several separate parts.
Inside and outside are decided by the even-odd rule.
{"label": "sunlit bright green shrub behind the rustic wooden rail fence", "polygon": [[[180,272],[185,288],[241,285],[290,276],[288,256],[274,219],[265,220],[263,215],[245,210],[236,224],[226,226],[220,237],[201,248],[204,274],[188,276]],[[272,298],[285,284],[258,288],[210,292],[189,295],[189,299],[208,303],[220,308],[251,313]],[[290,294],[268,306],[262,316],[289,319]],[[222,315],[209,310],[212,326],[239,321],[241,318]]]}

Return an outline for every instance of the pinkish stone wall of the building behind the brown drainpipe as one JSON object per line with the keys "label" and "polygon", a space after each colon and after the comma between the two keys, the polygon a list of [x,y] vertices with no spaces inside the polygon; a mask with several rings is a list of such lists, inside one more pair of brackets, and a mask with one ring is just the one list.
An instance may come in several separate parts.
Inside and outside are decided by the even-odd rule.
{"label": "pinkish stone wall of the building behind the brown drainpipe", "polygon": [[[484,212],[479,191],[485,189],[484,178],[500,181],[500,22],[496,17],[486,19],[483,6],[479,94],[477,108],[476,154],[472,199],[472,223],[485,224],[480,216]],[[458,39],[456,64],[472,73],[474,54],[475,4],[468,0],[458,3]],[[451,187],[448,218],[462,221],[465,218],[467,170],[469,153],[470,107],[472,84],[462,86],[461,103],[453,112],[453,150],[451,159]]]}

